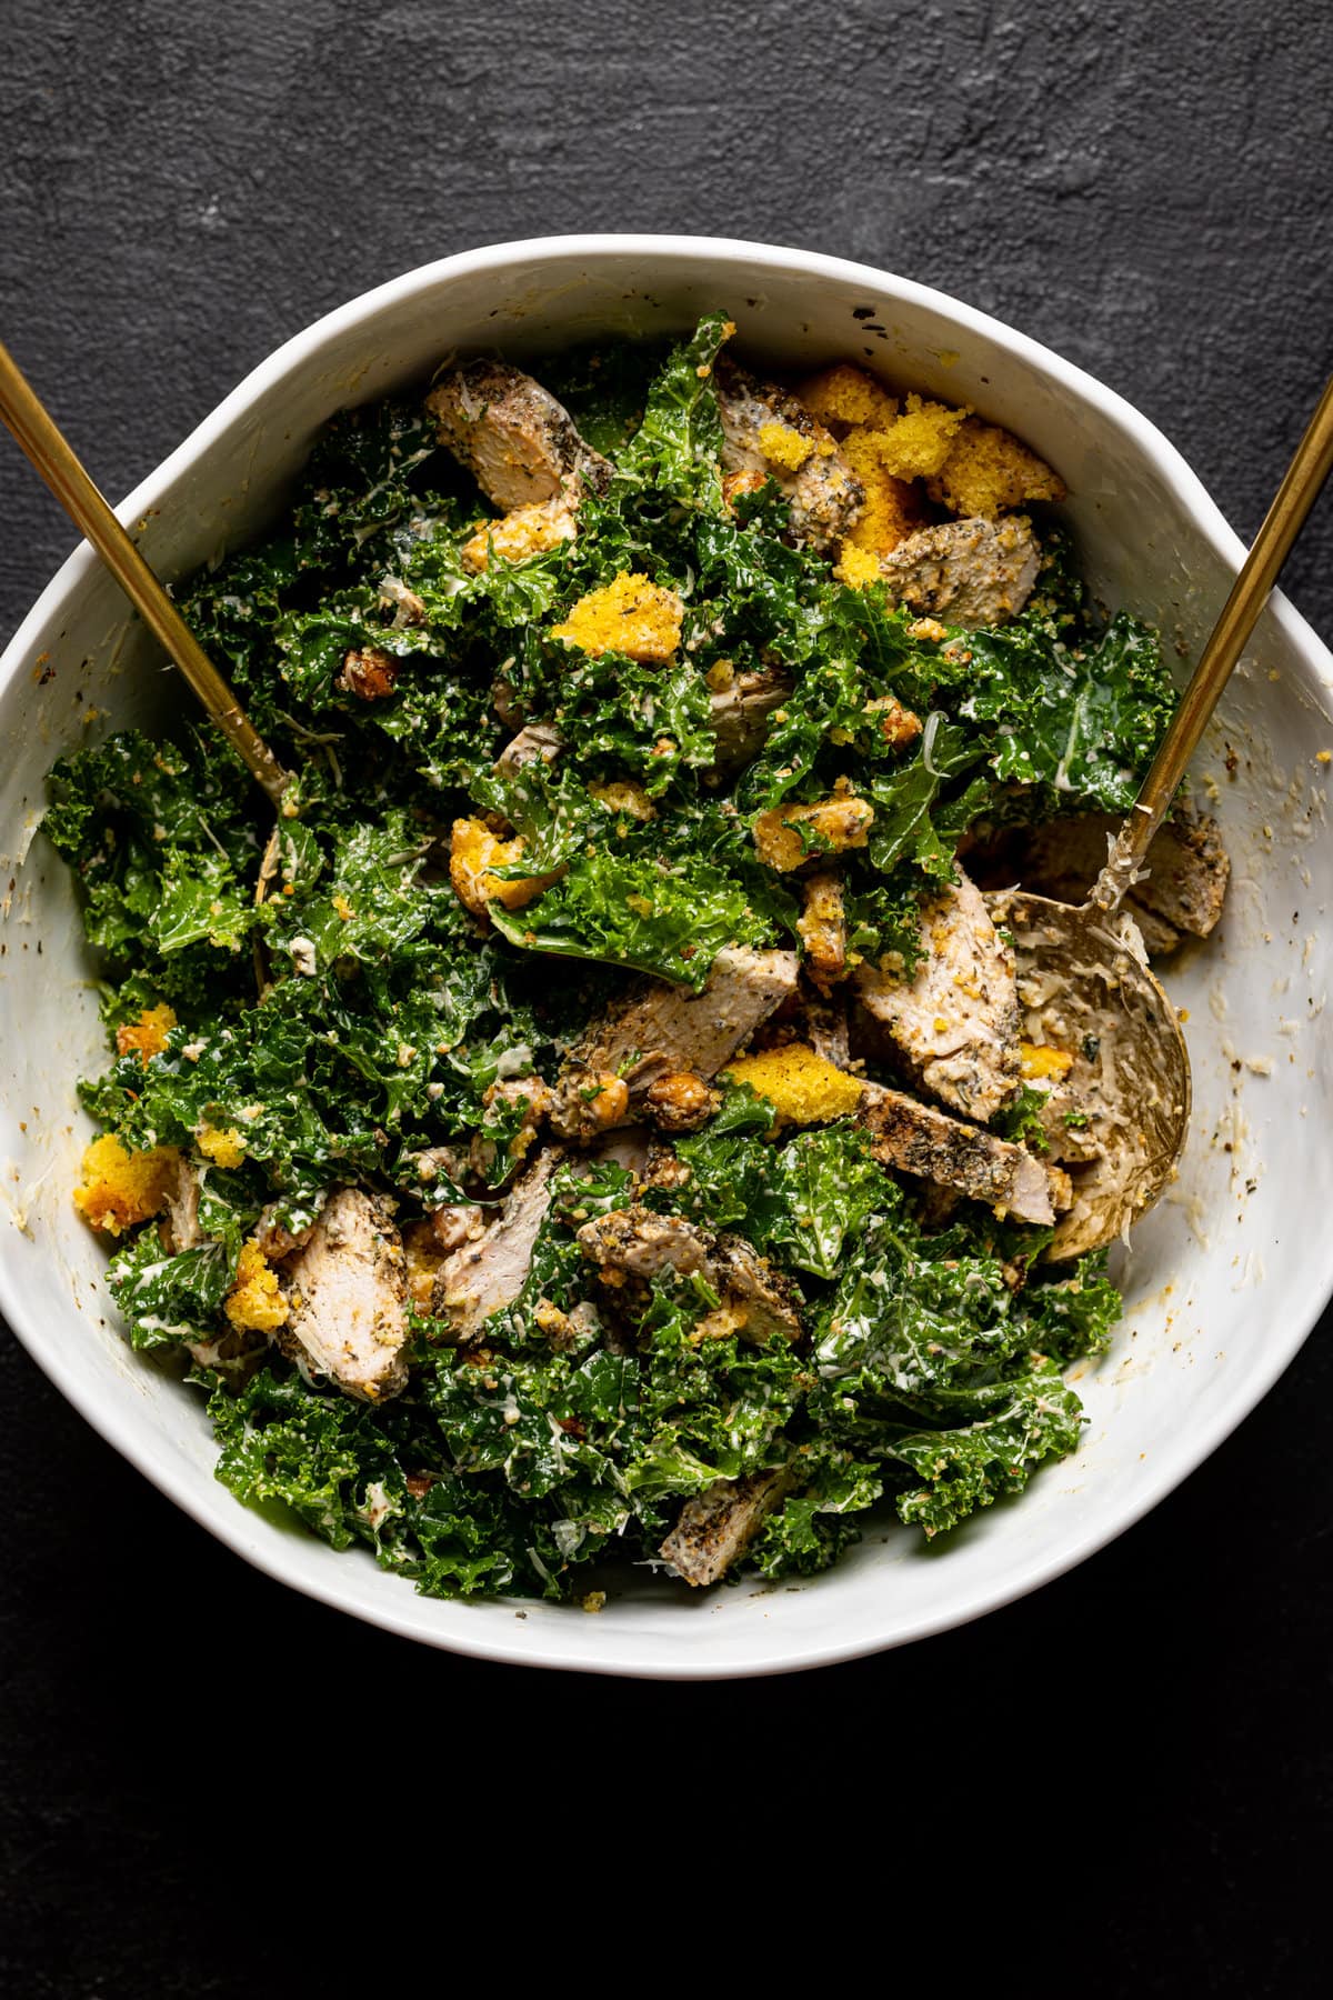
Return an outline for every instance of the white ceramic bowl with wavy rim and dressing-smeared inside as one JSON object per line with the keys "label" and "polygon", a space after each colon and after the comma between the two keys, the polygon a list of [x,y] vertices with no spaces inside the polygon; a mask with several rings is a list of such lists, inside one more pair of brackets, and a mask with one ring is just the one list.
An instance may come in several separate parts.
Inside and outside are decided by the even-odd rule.
{"label": "white ceramic bowl with wavy rim and dressing-smeared inside", "polygon": [[[334,410],[422,378],[450,348],[540,358],[600,334],[675,332],[709,306],[731,312],[759,360],[865,360],[1009,424],[1065,476],[1097,596],[1157,620],[1191,658],[1241,544],[1151,424],[939,292],[743,242],[552,238],[428,264],[280,348],[120,518],[140,524],[158,574],[178,578],[266,522]],[[590,1618],[542,1602],[430,1602],[370,1554],[336,1554],[248,1512],[212,1476],[202,1398],[116,1330],[104,1252],[70,1204],[88,1138],[74,1078],[102,1060],[92,964],[72,882],[36,834],[58,752],[126,724],[162,726],[192,698],[80,548],[0,662],[0,1306],[88,1422],[202,1526],[270,1576],[432,1646],[592,1672],[763,1674],[993,1610],[1179,1484],[1259,1402],[1333,1290],[1333,1068],[1317,1060],[1333,960],[1319,922],[1333,886],[1319,762],[1333,750],[1331,668],[1275,600],[1199,758],[1235,878],[1221,932],[1169,980],[1189,1010],[1195,1128],[1179,1186],[1135,1234],[1113,1350],[1079,1370],[1079,1454],[929,1550],[883,1526],[803,1588],[705,1596],[636,1570]]]}

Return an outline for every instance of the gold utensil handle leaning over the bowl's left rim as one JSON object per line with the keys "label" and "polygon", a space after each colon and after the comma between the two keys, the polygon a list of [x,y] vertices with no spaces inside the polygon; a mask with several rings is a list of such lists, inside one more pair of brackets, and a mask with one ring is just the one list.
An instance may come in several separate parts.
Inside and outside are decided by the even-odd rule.
{"label": "gold utensil handle leaning over the bowl's left rim", "polygon": [[276,806],[286,790],[288,772],[246,718],[230,686],[84,472],[70,442],[56,428],[4,342],[0,342],[0,418]]}

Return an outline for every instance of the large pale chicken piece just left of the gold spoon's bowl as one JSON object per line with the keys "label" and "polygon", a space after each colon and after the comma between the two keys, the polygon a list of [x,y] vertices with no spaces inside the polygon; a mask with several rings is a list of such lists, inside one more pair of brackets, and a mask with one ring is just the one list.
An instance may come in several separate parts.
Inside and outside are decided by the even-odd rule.
{"label": "large pale chicken piece just left of the gold spoon's bowl", "polygon": [[1017,978],[1011,948],[961,870],[921,912],[921,952],[911,980],[857,966],[857,998],[925,1090],[987,1124],[1019,1088]]}

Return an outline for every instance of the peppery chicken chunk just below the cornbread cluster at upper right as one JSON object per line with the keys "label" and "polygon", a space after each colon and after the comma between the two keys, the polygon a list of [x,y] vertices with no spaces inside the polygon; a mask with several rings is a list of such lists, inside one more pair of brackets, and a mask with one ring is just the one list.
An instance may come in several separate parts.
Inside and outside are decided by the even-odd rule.
{"label": "peppery chicken chunk just below the cornbread cluster at upper right", "polygon": [[1015,618],[1033,592],[1039,566],[1037,536],[1021,516],[921,528],[879,558],[879,574],[899,604],[955,626]]}

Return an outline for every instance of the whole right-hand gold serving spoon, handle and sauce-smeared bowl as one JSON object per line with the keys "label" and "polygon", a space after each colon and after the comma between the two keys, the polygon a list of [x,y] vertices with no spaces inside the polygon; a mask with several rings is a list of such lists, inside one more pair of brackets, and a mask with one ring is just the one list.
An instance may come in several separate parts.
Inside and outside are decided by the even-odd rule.
{"label": "whole right-hand gold serving spoon, handle and sauce-smeared bowl", "polygon": [[1073,1206],[1055,1226],[1049,1258],[1081,1256],[1123,1236],[1173,1178],[1185,1150],[1191,1098],[1185,1038],[1175,1008],[1143,964],[1133,918],[1119,914],[1119,906],[1331,468],[1333,382],[1087,902],[1053,902],[1021,888],[987,898],[993,918],[1015,940],[1019,1004],[1053,1046],[1073,1052],[1073,1066],[1051,1096]]}

